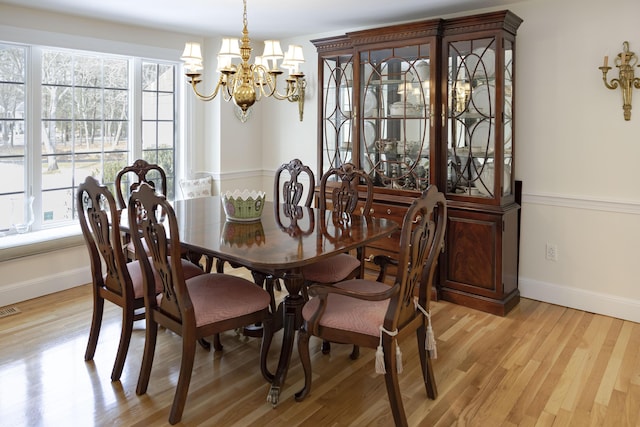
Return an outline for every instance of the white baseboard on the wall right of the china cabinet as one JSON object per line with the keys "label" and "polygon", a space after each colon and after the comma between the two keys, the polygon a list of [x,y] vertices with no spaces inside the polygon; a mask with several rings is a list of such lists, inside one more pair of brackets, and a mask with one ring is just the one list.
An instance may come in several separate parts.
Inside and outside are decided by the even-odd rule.
{"label": "white baseboard on the wall right of the china cabinet", "polygon": [[520,277],[522,298],[640,323],[640,301]]}

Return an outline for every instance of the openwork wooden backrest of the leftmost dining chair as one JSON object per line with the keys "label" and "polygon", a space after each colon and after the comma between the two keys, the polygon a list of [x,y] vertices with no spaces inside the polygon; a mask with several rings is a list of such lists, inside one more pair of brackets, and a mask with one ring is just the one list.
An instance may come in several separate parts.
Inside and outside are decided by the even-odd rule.
{"label": "openwork wooden backrest of the leftmost dining chair", "polygon": [[78,186],[76,209],[89,250],[93,285],[133,299],[133,285],[122,251],[121,211],[116,207],[113,194],[88,176]]}

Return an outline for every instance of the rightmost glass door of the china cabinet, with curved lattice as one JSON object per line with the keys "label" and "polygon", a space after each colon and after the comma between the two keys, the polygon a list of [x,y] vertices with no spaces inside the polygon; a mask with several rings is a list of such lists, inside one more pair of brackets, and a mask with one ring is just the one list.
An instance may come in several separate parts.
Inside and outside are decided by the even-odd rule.
{"label": "rightmost glass door of the china cabinet, with curved lattice", "polygon": [[504,49],[497,48],[496,38],[488,37],[447,46],[450,194],[499,198],[512,192],[512,48],[504,43]]}

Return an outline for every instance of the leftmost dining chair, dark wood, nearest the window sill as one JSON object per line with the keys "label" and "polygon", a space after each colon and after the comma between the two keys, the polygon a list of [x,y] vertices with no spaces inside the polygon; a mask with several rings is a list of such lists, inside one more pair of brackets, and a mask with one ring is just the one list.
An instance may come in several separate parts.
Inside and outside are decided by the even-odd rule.
{"label": "leftmost dining chair, dark wood, nearest the window sill", "polygon": [[[129,349],[133,322],[144,318],[142,270],[139,261],[127,262],[122,251],[120,213],[108,187],[92,176],[78,186],[76,207],[80,228],[89,250],[93,288],[93,315],[84,359],[93,360],[102,325],[104,301],[122,308],[122,330],[111,380],[120,379]],[[185,276],[202,270],[184,261]],[[159,282],[158,282],[159,284]]]}

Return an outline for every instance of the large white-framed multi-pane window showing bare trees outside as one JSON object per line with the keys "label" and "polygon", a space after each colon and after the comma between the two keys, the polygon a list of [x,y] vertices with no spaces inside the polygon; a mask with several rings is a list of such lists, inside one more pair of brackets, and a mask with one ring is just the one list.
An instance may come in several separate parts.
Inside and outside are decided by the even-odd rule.
{"label": "large white-framed multi-pane window showing bare trees outside", "polygon": [[0,235],[69,225],[84,178],[113,185],[136,158],[163,167],[173,198],[177,68],[0,44]]}

